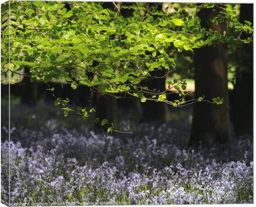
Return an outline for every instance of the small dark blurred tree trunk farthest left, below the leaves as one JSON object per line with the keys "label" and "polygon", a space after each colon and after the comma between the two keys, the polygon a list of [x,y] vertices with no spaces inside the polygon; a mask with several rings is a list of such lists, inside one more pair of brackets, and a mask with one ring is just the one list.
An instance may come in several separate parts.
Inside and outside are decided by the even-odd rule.
{"label": "small dark blurred tree trunk farthest left, below the leaves", "polygon": [[37,101],[38,96],[38,89],[37,89],[37,82],[30,82],[30,77],[26,75],[30,75],[29,68],[25,66],[24,68],[24,76],[20,82],[21,87],[21,103],[34,105]]}

